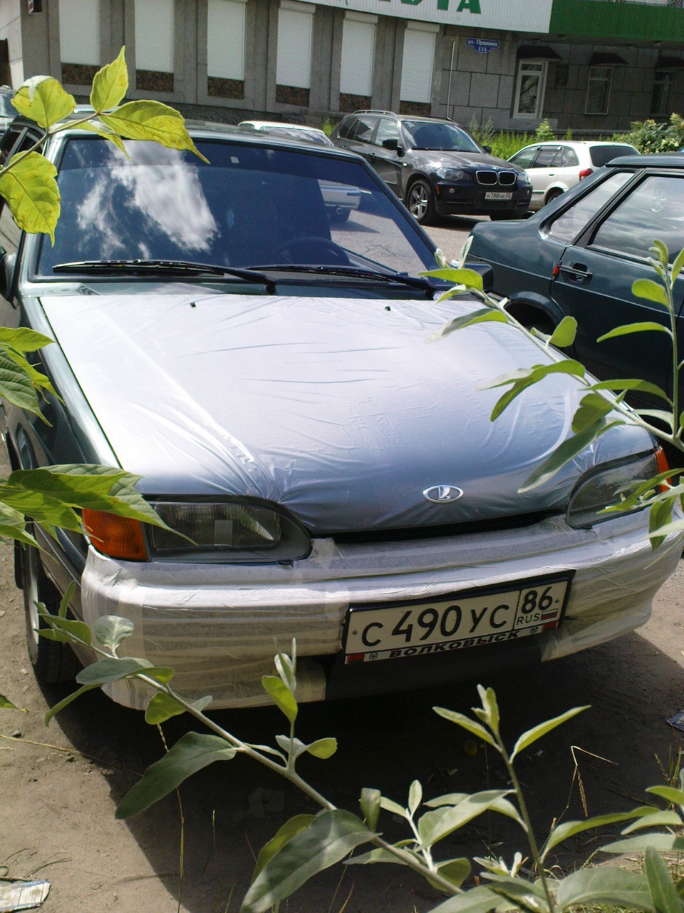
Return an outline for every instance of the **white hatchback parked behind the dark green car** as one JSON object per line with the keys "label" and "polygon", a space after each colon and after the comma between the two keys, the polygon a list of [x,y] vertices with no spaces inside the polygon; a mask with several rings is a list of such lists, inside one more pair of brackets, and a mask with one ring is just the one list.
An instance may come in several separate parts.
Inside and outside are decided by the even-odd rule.
{"label": "white hatchback parked behind the dark green car", "polygon": [[535,212],[602,165],[637,154],[627,142],[550,140],[525,146],[508,161],[527,172],[532,182],[530,209]]}

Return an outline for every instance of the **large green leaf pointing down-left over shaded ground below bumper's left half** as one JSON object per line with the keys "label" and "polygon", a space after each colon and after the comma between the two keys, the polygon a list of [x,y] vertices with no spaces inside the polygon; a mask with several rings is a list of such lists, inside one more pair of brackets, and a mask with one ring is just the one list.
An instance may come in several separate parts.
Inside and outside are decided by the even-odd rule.
{"label": "large green leaf pointing down-left over shaded ground below bumper's left half", "polygon": [[160,761],[148,767],[142,779],[126,793],[119,803],[116,817],[132,818],[146,811],[193,773],[214,761],[231,761],[234,757],[235,749],[220,736],[187,732]]}

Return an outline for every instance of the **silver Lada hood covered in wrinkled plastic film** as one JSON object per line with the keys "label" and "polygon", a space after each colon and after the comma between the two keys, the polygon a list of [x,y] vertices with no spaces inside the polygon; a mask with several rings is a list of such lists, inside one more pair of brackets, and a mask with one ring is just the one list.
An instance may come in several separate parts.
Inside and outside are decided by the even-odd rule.
{"label": "silver Lada hood covered in wrinkled plastic film", "polygon": [[[549,356],[500,323],[428,341],[472,301],[103,290],[41,301],[149,495],[266,498],[316,534],[415,528],[565,509],[587,467],[652,446],[636,426],[615,429],[518,494],[568,436],[580,389],[555,374],[492,423],[502,390],[482,385]],[[429,501],[439,486],[462,495]]]}

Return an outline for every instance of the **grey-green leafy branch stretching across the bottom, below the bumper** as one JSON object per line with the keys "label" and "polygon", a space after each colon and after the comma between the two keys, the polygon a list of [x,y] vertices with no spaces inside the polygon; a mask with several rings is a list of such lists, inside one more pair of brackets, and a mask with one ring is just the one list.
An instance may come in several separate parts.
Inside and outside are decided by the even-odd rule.
{"label": "grey-green leafy branch stretching across the bottom, below the bumper", "polygon": [[[88,625],[67,618],[68,599],[69,593],[57,615],[48,614],[45,606],[39,604],[40,617],[46,624],[39,635],[88,648],[99,658],[78,674],[78,690],[48,711],[46,723],[88,690],[135,678],[151,689],[145,710],[148,723],[161,724],[187,712],[210,730],[210,734],[187,733],[160,761],[153,763],[119,803],[118,818],[145,812],[193,773],[214,761],[232,761],[238,754],[247,755],[278,773],[320,807],[318,813],[295,815],[264,845],[254,866],[252,885],[244,897],[241,908],[244,913],[265,913],[302,887],[310,877],[337,863],[356,866],[393,863],[409,867],[446,897],[434,913],[507,913],[513,909],[525,913],[563,913],[577,904],[598,902],[647,910],[648,913],[683,913],[676,888],[658,851],[684,850],[684,839],[676,833],[681,828],[684,812],[684,776],[680,778],[679,788],[670,785],[652,787],[648,791],[663,800],[665,808],[642,805],[627,812],[556,824],[541,845],[534,835],[514,763],[534,742],[573,719],[585,707],[570,709],[528,729],[515,741],[513,750],[507,750],[500,731],[496,696],[492,688],[478,686],[481,706],[472,708],[472,718],[446,708],[434,709],[440,717],[465,729],[499,754],[511,788],[472,794],[451,792],[426,801],[423,787],[416,780],[410,784],[408,802],[404,806],[382,795],[378,789],[366,787],[359,795],[360,814],[352,813],[337,808],[296,771],[296,761],[305,754],[321,760],[330,758],[337,750],[337,740],[323,738],[305,743],[296,737],[294,643],[290,655],[277,651],[276,674],[262,679],[265,692],[288,721],[289,731],[275,736],[274,746],[255,745],[239,739],[206,715],[204,711],[212,701],[210,696],[191,702],[174,691],[171,668],[153,666],[135,656],[119,656],[119,647],[133,631],[130,621],[106,616],[98,619],[91,633]],[[677,811],[673,810],[673,805],[677,806]],[[389,843],[379,829],[382,812],[403,821],[409,834]],[[477,858],[475,861],[484,869],[481,875],[484,884],[463,887],[472,873],[471,862],[461,857],[440,859],[435,849],[441,841],[485,812],[503,814],[520,825],[533,860],[531,874],[523,875],[523,855],[519,852],[510,866],[503,858]],[[599,867],[583,869],[565,878],[549,877],[545,863],[557,845],[584,831],[626,821],[630,822],[623,830],[626,839],[604,849],[609,853],[645,852],[647,866],[643,876]],[[653,828],[659,830],[654,833]],[[361,855],[352,855],[363,845],[371,848]],[[663,897],[670,898],[668,906],[663,906]],[[674,904],[672,897],[678,898],[679,906]]]}

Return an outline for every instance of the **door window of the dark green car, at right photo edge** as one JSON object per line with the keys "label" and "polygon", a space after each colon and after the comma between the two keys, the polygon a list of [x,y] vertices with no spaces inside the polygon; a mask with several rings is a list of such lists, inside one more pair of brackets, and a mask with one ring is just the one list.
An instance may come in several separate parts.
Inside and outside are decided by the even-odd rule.
{"label": "door window of the dark green car, at right photo edge", "polygon": [[648,257],[655,238],[668,247],[672,263],[682,247],[684,179],[647,177],[601,223],[591,244],[632,257]]}

